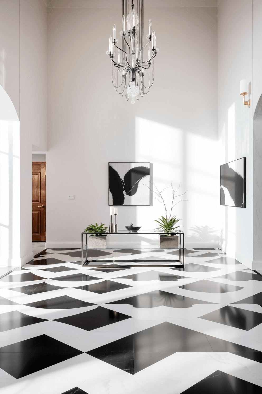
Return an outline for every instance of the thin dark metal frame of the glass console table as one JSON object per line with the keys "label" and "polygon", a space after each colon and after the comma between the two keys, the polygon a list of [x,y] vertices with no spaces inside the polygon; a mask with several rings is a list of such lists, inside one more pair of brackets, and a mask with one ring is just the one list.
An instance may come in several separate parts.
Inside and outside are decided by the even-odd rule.
{"label": "thin dark metal frame of the glass console table", "polygon": [[[167,233],[167,232],[158,232],[158,231],[154,231],[154,230],[139,230],[139,231],[137,231],[137,232],[129,232],[128,230],[118,230],[118,232],[109,232],[109,233],[98,233],[98,232],[96,232],[96,233],[92,233],[92,234],[97,234],[97,235],[100,235],[100,236],[105,236],[105,235],[121,235],[121,234],[130,234],[130,235],[139,235],[139,234],[143,234],[143,235],[145,235],[145,234],[154,234],[154,235],[156,235],[156,234],[159,234],[159,235],[169,235],[169,234],[171,234],[171,233]],[[179,247],[178,248],[174,248],[174,247],[172,247],[172,248],[165,248],[165,250],[166,249],[177,249],[177,250],[179,250],[179,258],[177,258],[177,259],[174,259],[174,260],[159,260],[159,262],[161,261],[161,262],[169,262],[169,264],[161,264],[161,267],[184,267],[185,266],[185,233],[183,232],[183,231],[180,231],[180,230],[177,230],[176,232],[174,232],[174,233],[172,233],[173,235],[177,235],[177,236],[179,236],[179,243],[178,243],[178,245],[179,245]],[[81,239],[81,244],[82,244],[82,267],[84,267],[84,266],[87,266],[87,265],[89,265],[90,264],[90,262],[99,262],[99,261],[101,261],[101,260],[99,260],[99,259],[90,259],[89,258],[89,256],[88,256],[88,251],[93,251],[93,250],[108,250],[109,248],[88,248],[88,236],[90,236],[91,235],[91,233],[89,233],[89,232],[86,232],[86,231],[84,231],[84,232],[82,232],[82,239]],[[84,237],[85,237],[85,244],[84,244]],[[182,245],[181,245],[181,242],[182,242]],[[125,250],[130,250],[130,247],[129,248],[117,248],[118,250],[123,250],[123,251],[125,251]],[[147,247],[147,248],[134,248],[134,249],[136,249],[136,250],[147,250],[147,249],[150,249],[150,251],[152,251],[152,248],[150,248],[150,247]],[[155,248],[156,250],[159,250],[159,248]],[[85,251],[85,253],[84,253],[84,251]],[[152,252],[152,253],[154,253],[154,252]],[[85,255],[85,256],[84,256]],[[88,260],[88,258],[89,258],[89,260]],[[137,267],[137,265],[132,265],[132,262],[142,262],[142,261],[148,261],[148,262],[150,262],[150,261],[157,261],[157,260],[130,260],[130,264],[128,264],[128,266],[129,267]],[[112,260],[106,260],[106,262],[112,262],[112,263],[117,263],[117,262],[121,262],[121,260],[115,260],[115,258],[112,258]],[[174,263],[179,263],[179,264],[172,264],[172,265],[170,265],[170,263],[172,263],[172,262],[174,262]],[[139,264],[139,267],[155,267],[156,266],[156,264],[154,264],[154,265],[149,265],[149,264],[146,264],[146,265],[140,265]],[[112,266],[111,266],[112,267]],[[115,265],[114,265],[114,267],[115,267]],[[106,265],[106,268],[110,268],[110,265]]]}

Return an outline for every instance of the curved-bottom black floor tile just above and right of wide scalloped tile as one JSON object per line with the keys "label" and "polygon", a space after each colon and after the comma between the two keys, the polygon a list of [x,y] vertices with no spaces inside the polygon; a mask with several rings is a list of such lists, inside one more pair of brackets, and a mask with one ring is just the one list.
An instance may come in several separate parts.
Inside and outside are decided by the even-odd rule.
{"label": "curved-bottom black floor tile just above and right of wide scalloped tile", "polygon": [[241,290],[243,288],[240,286],[233,286],[232,284],[207,281],[205,279],[202,279],[202,281],[183,284],[182,286],[178,286],[178,287],[184,290],[191,290],[193,292],[204,292],[204,293],[236,292],[237,290]]}

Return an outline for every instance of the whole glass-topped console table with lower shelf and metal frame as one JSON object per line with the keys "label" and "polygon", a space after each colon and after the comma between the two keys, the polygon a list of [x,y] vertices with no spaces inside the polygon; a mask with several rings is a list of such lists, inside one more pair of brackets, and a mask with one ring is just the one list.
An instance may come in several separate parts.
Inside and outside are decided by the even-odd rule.
{"label": "whole glass-topped console table with lower shelf and metal frame", "polygon": [[[167,236],[170,235],[171,233],[164,233],[164,232],[158,232],[154,230],[139,230],[137,232],[129,232],[128,230],[118,230],[118,232],[110,232],[110,233],[92,233],[96,234],[99,236],[105,236],[108,235],[109,240],[112,241],[114,240],[115,236],[119,235],[128,235],[130,237],[134,235],[156,235],[158,234],[159,236]],[[117,265],[125,265],[128,267],[150,267],[150,266],[162,266],[162,267],[184,267],[185,265],[185,234],[184,232],[178,230],[175,233],[172,233],[173,235],[178,236],[178,247],[165,247],[165,249],[160,249],[158,248],[150,248],[148,247],[139,247],[139,248],[132,248],[134,250],[134,253],[130,252],[130,247],[129,248],[110,248],[107,247],[105,249],[95,249],[95,248],[88,248],[88,236],[91,234],[89,232],[82,232],[82,267],[84,266],[105,266],[110,268],[112,267],[112,264],[108,263],[113,263],[114,267],[115,264]],[[116,249],[116,250],[115,250]],[[121,256],[121,252],[123,251],[123,256]],[[137,251],[137,253],[135,253]],[[147,253],[148,251],[148,253]],[[99,255],[99,252],[101,252],[101,255]],[[162,253],[161,253],[162,252]],[[131,253],[128,255],[127,253]],[[152,256],[141,256],[142,253],[147,253],[149,255],[154,255],[156,256],[154,259],[152,259]],[[141,256],[139,259],[139,255]],[[159,256],[161,255],[161,256]],[[165,256],[166,255],[166,256]],[[135,256],[135,257],[134,257]],[[169,256],[174,256],[174,258],[167,258]],[[121,259],[122,257],[122,259]],[[130,258],[128,258],[130,257]],[[142,259],[141,259],[142,258]],[[148,258],[148,259],[147,259]],[[122,264],[120,264],[122,262]],[[123,262],[128,262],[128,264],[123,264]],[[132,264],[132,262],[135,262],[136,264]],[[140,264],[137,264],[137,263]],[[146,262],[154,262],[154,264],[143,264]],[[163,264],[165,263],[165,264]],[[174,264],[176,263],[176,264]]]}

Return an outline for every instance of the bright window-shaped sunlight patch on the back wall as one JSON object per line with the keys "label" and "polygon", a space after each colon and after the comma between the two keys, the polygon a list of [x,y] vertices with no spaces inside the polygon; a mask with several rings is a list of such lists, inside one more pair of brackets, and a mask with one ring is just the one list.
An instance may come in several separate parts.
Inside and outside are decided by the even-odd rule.
{"label": "bright window-shaped sunlight patch on the back wall", "polygon": [[[218,141],[136,117],[135,157],[136,162],[152,163],[151,181],[159,190],[171,182],[175,190],[181,185],[178,194],[187,189],[177,201],[189,201],[178,203],[172,211],[172,215],[181,219],[185,239],[218,242]],[[170,205],[172,190],[164,193]],[[163,205],[155,199],[147,211],[141,207],[136,211],[137,223],[147,223],[150,229],[156,227],[153,220],[165,214]]]}

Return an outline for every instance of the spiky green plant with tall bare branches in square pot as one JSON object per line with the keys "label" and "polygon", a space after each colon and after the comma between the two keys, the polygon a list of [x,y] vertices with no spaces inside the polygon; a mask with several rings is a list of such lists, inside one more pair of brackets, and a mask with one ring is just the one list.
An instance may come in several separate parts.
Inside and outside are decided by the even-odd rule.
{"label": "spiky green plant with tall bare branches in square pot", "polygon": [[185,193],[183,194],[179,194],[177,195],[178,189],[180,188],[180,185],[178,187],[178,189],[175,191],[173,188],[173,183],[171,182],[171,188],[172,188],[172,203],[171,203],[171,210],[170,210],[170,214],[168,216],[167,214],[167,204],[165,203],[164,199],[163,199],[163,190],[159,191],[158,188],[154,185],[156,191],[152,190],[153,193],[156,195],[156,199],[164,205],[165,207],[165,216],[161,216],[161,218],[159,218],[158,220],[154,220],[156,223],[158,223],[158,227],[155,229],[156,231],[161,231],[165,234],[161,235],[160,234],[160,243],[159,243],[159,247],[161,249],[164,248],[178,248],[178,236],[176,235],[176,229],[178,229],[178,227],[180,226],[176,226],[176,224],[178,223],[178,221],[180,221],[180,219],[177,219],[176,216],[172,216],[172,209],[174,208],[174,206],[178,203],[180,203],[181,201],[185,201],[185,200],[180,200],[178,201],[178,203],[174,203],[176,197],[181,197],[183,195],[185,195]]}

